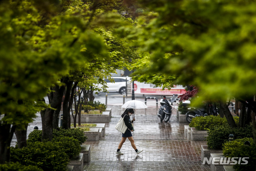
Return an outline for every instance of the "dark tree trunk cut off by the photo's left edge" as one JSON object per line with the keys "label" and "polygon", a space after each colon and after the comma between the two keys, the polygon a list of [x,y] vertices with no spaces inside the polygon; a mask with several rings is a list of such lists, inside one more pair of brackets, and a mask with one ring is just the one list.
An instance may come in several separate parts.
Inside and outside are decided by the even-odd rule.
{"label": "dark tree trunk cut off by the photo's left edge", "polygon": [[10,144],[16,126],[0,122],[0,164],[10,161]]}

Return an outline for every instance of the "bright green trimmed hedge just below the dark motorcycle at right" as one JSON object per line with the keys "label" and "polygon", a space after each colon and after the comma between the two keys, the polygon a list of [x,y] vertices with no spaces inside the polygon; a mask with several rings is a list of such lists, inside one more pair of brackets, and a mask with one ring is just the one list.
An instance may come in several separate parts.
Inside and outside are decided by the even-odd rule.
{"label": "bright green trimmed hedge just below the dark motorcycle at right", "polygon": [[[239,117],[235,116],[234,120],[236,124],[238,124]],[[204,130],[204,131],[209,131],[210,129],[213,129],[215,126],[221,126],[221,125],[228,126],[228,121],[226,120],[226,117],[220,117],[219,115],[195,117],[195,118],[192,118],[192,121],[189,124],[190,127],[194,127],[198,130]]]}

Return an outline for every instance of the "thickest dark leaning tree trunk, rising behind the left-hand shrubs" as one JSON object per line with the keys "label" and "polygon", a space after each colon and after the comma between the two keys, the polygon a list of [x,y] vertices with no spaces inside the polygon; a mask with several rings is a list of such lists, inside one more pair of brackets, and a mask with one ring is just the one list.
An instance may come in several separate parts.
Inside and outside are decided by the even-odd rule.
{"label": "thickest dark leaning tree trunk, rising behind the left-hand shrubs", "polygon": [[[58,106],[61,104],[64,90],[65,86],[55,86],[52,88],[52,92],[48,95],[49,104],[54,109],[57,109]],[[54,111],[55,110],[50,108],[41,111],[42,140],[52,140]]]}

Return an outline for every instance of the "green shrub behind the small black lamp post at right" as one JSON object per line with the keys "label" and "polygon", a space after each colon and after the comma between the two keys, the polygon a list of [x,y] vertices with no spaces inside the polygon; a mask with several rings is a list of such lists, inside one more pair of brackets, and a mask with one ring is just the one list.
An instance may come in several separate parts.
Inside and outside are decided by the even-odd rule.
{"label": "green shrub behind the small black lamp post at right", "polygon": [[228,125],[216,126],[208,131],[207,145],[212,149],[222,149],[222,144],[228,141],[229,134],[233,134],[235,139],[251,138],[252,124],[245,128],[230,128]]}

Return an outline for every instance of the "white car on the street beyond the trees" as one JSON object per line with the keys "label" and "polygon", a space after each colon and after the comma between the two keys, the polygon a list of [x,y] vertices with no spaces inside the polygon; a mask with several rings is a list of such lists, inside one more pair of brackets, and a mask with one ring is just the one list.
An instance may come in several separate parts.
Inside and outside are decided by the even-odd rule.
{"label": "white car on the street beyond the trees", "polygon": [[[107,91],[110,93],[118,92],[120,94],[126,93],[126,79],[127,84],[130,84],[131,77],[112,77],[114,79],[114,82],[111,83],[109,79],[104,79],[104,81],[107,83]],[[102,93],[102,92],[99,92]]]}

